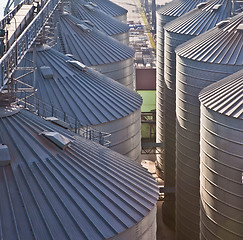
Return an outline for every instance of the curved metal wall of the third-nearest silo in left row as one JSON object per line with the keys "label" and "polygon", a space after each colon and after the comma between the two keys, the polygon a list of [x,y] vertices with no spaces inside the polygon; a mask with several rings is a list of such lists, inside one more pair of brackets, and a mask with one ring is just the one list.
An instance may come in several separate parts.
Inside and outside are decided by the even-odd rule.
{"label": "curved metal wall of the third-nearest silo in left row", "polygon": [[134,61],[128,58],[119,62],[91,66],[91,68],[134,90]]}

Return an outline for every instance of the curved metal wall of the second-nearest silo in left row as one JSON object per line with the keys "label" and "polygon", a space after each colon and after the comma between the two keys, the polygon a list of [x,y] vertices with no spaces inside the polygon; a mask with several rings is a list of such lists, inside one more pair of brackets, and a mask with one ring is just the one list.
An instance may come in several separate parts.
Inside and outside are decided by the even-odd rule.
{"label": "curved metal wall of the second-nearest silo in left row", "polygon": [[140,162],[141,110],[111,122],[93,126],[96,130],[111,134],[110,149]]}

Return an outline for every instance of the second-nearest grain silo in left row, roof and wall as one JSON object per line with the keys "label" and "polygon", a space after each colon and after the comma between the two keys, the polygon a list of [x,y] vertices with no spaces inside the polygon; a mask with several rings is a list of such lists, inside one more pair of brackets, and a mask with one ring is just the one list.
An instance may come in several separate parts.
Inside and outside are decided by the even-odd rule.
{"label": "second-nearest grain silo in left row, roof and wall", "polygon": [[72,128],[77,120],[82,126],[110,133],[111,149],[139,161],[140,95],[48,46],[40,46],[35,52],[27,53],[21,64],[28,69],[35,55],[34,82],[33,74],[20,70],[18,74],[23,76],[21,82],[37,89],[39,102],[34,98],[28,101],[38,105],[38,112],[44,116],[49,112],[48,117],[55,112],[61,120],[69,116]]}

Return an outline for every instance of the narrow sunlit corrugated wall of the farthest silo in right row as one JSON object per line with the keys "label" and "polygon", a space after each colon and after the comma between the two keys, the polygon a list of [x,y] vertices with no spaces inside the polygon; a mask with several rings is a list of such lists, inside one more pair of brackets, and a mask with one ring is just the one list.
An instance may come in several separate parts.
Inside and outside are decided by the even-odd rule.
{"label": "narrow sunlit corrugated wall of the farthest silo in right row", "polygon": [[[157,12],[157,43],[156,43],[156,142],[163,142],[164,114],[164,25],[176,17],[164,16]],[[158,154],[156,160],[157,173],[164,178],[163,155]]]}

